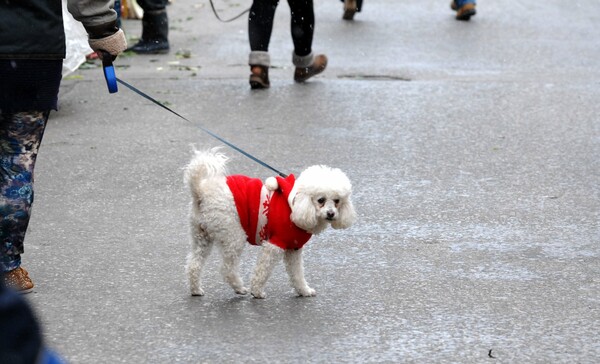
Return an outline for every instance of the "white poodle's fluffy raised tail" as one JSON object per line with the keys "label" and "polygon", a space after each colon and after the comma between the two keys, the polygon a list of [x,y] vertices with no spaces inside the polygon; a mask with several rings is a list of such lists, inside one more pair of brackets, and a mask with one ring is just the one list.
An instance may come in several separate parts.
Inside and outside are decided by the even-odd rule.
{"label": "white poodle's fluffy raised tail", "polygon": [[192,196],[200,200],[202,182],[218,176],[225,176],[229,158],[219,152],[220,148],[207,151],[194,150],[194,156],[185,167],[184,182],[189,186]]}

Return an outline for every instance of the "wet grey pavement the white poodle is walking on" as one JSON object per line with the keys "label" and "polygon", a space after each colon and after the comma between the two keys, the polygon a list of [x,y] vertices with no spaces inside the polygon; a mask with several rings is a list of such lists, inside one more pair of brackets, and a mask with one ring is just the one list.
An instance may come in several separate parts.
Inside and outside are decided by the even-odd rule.
{"label": "wet grey pavement the white poodle is walking on", "polygon": [[[190,297],[182,168],[192,144],[221,143],[79,70],[47,128],[23,256],[49,346],[70,363],[597,362],[600,2],[482,0],[468,23],[445,0],[367,0],[354,22],[315,3],[330,63],[306,84],[285,2],[269,90],[249,89],[246,21],[219,23],[205,0],[169,7],[169,54],[116,65],[285,172],[346,171],[359,219],[308,244],[317,296],[296,298],[282,267],[266,299],[236,296],[213,254]],[[231,172],[272,175],[225,151]]]}

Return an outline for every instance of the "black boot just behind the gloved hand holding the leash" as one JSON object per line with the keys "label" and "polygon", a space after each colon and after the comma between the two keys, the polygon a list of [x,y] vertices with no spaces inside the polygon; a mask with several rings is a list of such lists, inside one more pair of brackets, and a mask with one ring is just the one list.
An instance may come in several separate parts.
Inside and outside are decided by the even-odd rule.
{"label": "black boot just behind the gloved hand holding the leash", "polygon": [[139,54],[169,52],[169,19],[167,10],[145,11],[142,18],[142,37],[127,49]]}

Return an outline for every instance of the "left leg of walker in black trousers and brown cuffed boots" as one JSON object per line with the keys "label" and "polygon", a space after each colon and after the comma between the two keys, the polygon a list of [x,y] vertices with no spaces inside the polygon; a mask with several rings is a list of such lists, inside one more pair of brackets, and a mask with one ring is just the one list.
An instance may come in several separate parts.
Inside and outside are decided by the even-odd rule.
{"label": "left leg of walker in black trousers and brown cuffed boots", "polygon": [[253,89],[268,88],[269,42],[273,32],[273,19],[279,0],[255,0],[248,15],[248,40],[250,42],[250,86]]}

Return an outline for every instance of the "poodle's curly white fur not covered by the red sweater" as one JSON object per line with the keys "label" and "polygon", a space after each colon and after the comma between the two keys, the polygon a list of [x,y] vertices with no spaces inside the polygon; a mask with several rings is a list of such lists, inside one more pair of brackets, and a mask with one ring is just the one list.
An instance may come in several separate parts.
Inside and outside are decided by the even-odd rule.
{"label": "poodle's curly white fur not covered by the red sweater", "polygon": [[[251,279],[250,290],[239,274],[240,256],[245,247],[246,233],[240,224],[233,195],[226,183],[227,156],[217,149],[195,151],[185,168],[184,179],[192,194],[190,213],[191,251],[187,256],[186,272],[191,294],[204,295],[201,273],[212,246],[221,245],[225,281],[238,294],[249,291],[255,298],[264,298],[264,287],[277,263],[285,261],[292,287],[300,296],[314,296],[304,278],[302,249],[284,250],[262,242],[262,252]],[[275,184],[273,184],[273,182]],[[277,181],[269,178],[269,189]],[[328,225],[344,229],[352,225],[356,213],[350,199],[352,185],[337,168],[312,166],[297,178],[290,193],[291,220],[301,229],[318,234]]]}

